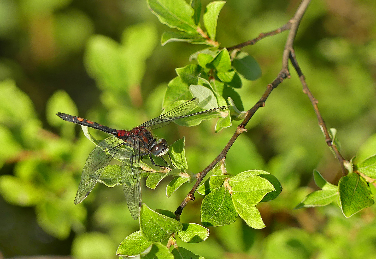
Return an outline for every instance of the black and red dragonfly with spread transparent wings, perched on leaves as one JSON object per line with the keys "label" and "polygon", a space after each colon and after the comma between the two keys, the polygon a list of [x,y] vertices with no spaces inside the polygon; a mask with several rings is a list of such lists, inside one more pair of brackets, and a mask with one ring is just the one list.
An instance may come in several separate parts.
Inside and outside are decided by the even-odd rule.
{"label": "black and red dragonfly with spread transparent wings, perched on leaves", "polygon": [[[230,107],[222,106],[188,114],[197,106],[199,101],[199,98],[193,98],[185,103],[182,103],[176,108],[171,109],[165,114],[146,121],[145,123],[131,130],[112,129],[93,121],[58,112],[56,115],[65,121],[92,127],[113,135],[99,142],[86,159],[77,194],[74,198],[74,204],[79,204],[89,195],[94,188],[94,185],[100,179],[104,168],[106,168],[111,159],[117,155],[117,157],[120,156],[121,183],[123,183],[123,190],[128,209],[132,215],[132,218],[136,220],[139,217],[142,204],[141,186],[139,182],[140,159],[142,159],[143,156],[149,156],[153,165],[170,169],[164,165],[155,164],[153,156],[162,158],[163,155],[168,154],[170,161],[171,157],[168,153],[167,141],[164,138],[157,138],[153,136],[151,131],[166,126],[174,120],[219,112]],[[162,160],[166,165],[168,165],[164,158],[162,158]]]}

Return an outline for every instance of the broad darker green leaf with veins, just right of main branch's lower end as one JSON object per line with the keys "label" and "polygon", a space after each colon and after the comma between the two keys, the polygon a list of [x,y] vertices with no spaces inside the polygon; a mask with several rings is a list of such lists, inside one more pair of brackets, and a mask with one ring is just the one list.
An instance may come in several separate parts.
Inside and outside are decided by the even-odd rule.
{"label": "broad darker green leaf with veins, just right of main branch's lower end", "polygon": [[208,195],[201,203],[201,221],[205,227],[228,225],[238,217],[230,193],[221,187]]}

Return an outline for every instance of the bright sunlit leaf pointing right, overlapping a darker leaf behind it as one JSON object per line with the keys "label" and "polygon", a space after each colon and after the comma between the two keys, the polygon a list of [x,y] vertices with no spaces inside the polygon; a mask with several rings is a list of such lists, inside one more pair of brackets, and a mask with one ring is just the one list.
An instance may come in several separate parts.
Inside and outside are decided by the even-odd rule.
{"label": "bright sunlit leaf pointing right, overlapping a darker leaf behind it", "polygon": [[[232,181],[229,183],[231,185]],[[260,176],[247,177],[231,186],[232,198],[249,206],[255,206],[268,192],[275,190],[268,180]]]}

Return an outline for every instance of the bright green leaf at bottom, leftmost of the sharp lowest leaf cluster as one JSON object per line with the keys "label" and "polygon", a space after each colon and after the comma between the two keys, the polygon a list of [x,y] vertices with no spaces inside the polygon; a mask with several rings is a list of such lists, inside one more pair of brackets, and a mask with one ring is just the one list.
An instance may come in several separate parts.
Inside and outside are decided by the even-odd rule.
{"label": "bright green leaf at bottom, leftmost of the sharp lowest leaf cluster", "polygon": [[121,241],[116,255],[118,256],[136,256],[143,253],[148,247],[152,245],[151,241],[147,241],[141,234],[141,230],[133,232]]}

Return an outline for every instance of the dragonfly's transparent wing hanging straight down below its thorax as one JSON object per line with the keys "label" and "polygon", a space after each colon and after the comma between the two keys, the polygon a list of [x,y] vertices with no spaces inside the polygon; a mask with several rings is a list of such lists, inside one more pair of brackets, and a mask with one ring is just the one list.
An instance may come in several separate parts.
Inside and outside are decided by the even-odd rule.
{"label": "dragonfly's transparent wing hanging straight down below its thorax", "polygon": [[141,186],[139,179],[140,145],[138,136],[132,136],[130,138],[128,138],[127,142],[131,142],[133,151],[125,154],[121,162],[121,178],[130,215],[136,220],[140,215],[141,209]]}

